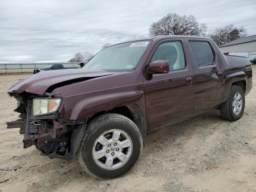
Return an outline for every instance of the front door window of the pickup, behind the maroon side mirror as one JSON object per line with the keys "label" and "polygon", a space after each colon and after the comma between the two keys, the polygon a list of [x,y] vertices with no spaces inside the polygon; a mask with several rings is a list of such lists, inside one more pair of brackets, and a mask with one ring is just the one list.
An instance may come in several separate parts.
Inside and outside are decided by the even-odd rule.
{"label": "front door window of the pickup, behind the maroon side mirror", "polygon": [[186,62],[181,42],[172,41],[161,44],[154,53],[151,62],[157,60],[167,60],[170,71],[184,69]]}

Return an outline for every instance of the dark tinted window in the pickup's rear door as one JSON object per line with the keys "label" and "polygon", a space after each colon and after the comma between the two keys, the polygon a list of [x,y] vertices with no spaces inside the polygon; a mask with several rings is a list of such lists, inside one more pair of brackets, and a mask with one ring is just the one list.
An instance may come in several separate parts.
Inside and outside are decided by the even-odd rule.
{"label": "dark tinted window in the pickup's rear door", "polygon": [[189,44],[198,67],[213,64],[214,54],[208,42],[189,41]]}

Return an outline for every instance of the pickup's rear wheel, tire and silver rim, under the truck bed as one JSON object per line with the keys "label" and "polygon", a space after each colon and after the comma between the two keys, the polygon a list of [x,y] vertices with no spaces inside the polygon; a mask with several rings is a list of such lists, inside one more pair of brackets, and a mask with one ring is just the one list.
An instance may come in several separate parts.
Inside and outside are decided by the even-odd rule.
{"label": "pickup's rear wheel, tire and silver rim, under the truck bed", "polygon": [[228,94],[228,99],[220,107],[220,114],[225,120],[236,121],[244,113],[244,105],[244,91],[239,86],[232,86]]}

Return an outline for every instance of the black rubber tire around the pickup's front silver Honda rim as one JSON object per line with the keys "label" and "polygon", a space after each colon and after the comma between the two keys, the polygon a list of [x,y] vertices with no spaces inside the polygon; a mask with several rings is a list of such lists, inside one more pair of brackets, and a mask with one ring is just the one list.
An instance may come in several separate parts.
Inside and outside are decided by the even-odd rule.
{"label": "black rubber tire around the pickup's front silver Honda rim", "polygon": [[[93,157],[94,143],[101,134],[108,130],[118,129],[124,131],[132,140],[132,152],[124,165],[114,170],[100,167]],[[142,135],[140,130],[129,118],[120,114],[104,114],[91,120],[84,132],[78,159],[82,168],[91,176],[100,178],[115,178],[126,174],[138,161],[142,152]]]}

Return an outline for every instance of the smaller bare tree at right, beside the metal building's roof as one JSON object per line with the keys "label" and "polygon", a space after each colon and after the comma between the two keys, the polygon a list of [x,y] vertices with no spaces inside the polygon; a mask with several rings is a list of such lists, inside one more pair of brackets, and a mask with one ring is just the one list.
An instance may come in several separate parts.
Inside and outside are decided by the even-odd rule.
{"label": "smaller bare tree at right, beside the metal building's roof", "polygon": [[243,26],[238,28],[233,24],[216,28],[209,33],[209,37],[212,38],[218,46],[246,36],[247,30]]}

